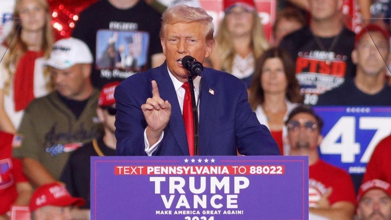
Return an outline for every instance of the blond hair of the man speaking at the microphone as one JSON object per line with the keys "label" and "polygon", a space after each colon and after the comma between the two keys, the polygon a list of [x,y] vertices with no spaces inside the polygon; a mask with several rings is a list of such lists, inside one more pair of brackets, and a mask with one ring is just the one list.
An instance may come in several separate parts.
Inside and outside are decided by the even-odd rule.
{"label": "blond hair of the man speaking at the microphone", "polygon": [[164,37],[167,24],[201,22],[206,27],[206,40],[213,40],[214,26],[212,21],[213,18],[202,8],[177,5],[162,14],[160,38]]}

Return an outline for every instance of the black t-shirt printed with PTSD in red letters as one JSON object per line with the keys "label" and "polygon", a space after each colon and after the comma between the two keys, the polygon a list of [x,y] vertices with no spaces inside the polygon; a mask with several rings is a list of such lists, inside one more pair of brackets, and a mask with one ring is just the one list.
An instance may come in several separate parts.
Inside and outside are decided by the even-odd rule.
{"label": "black t-shirt printed with PTSD in red letters", "polygon": [[354,37],[345,27],[335,37],[315,37],[306,26],[283,38],[280,46],[295,60],[296,77],[305,104],[314,105],[318,95],[354,76],[355,66],[351,60]]}

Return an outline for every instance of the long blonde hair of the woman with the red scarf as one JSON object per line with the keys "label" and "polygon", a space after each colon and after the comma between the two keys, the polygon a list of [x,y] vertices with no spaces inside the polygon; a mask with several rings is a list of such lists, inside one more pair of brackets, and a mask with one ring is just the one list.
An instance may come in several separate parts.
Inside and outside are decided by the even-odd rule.
{"label": "long blonde hair of the woman with the red scarf", "polygon": [[[14,7],[14,17],[19,18],[19,10],[23,0],[16,0]],[[44,26],[44,34],[42,36],[41,49],[44,51],[44,57],[48,58],[54,43],[53,29],[51,26],[49,5],[46,0],[34,0],[46,12],[46,21]],[[4,67],[8,72],[8,79],[6,80],[4,90],[8,93],[11,81],[14,75],[12,67],[16,67],[20,57],[27,51],[27,45],[21,39],[22,27],[19,27],[20,22],[14,21],[10,34],[5,39],[8,46],[7,56],[4,57]],[[48,85],[49,86],[49,85]]]}

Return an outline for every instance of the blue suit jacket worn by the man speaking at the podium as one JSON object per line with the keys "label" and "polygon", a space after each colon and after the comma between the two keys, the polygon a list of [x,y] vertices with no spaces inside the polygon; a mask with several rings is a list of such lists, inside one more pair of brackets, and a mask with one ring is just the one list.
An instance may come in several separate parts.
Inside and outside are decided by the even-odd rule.
{"label": "blue suit jacket worn by the man speaking at the podium", "polygon": [[[189,155],[182,113],[166,63],[135,74],[116,87],[117,154],[146,155],[147,123],[141,105],[152,97],[152,80],[157,82],[160,97],[172,106],[164,138],[153,155]],[[244,155],[280,155],[269,130],[259,124],[251,110],[246,85],[241,80],[205,68],[199,105],[200,155],[236,155],[237,148]]]}

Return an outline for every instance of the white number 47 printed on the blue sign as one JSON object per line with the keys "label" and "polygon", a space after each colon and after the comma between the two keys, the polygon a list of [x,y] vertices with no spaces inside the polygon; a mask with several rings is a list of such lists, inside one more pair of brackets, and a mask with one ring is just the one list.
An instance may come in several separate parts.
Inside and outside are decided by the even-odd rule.
{"label": "white number 47 printed on the blue sign", "polygon": [[[360,143],[355,142],[355,122],[353,116],[341,117],[320,144],[322,154],[341,154],[342,163],[354,163],[355,155],[360,154]],[[391,133],[390,117],[360,117],[361,130],[376,130],[360,162],[368,163],[377,143]],[[340,142],[337,142],[341,138]]]}

